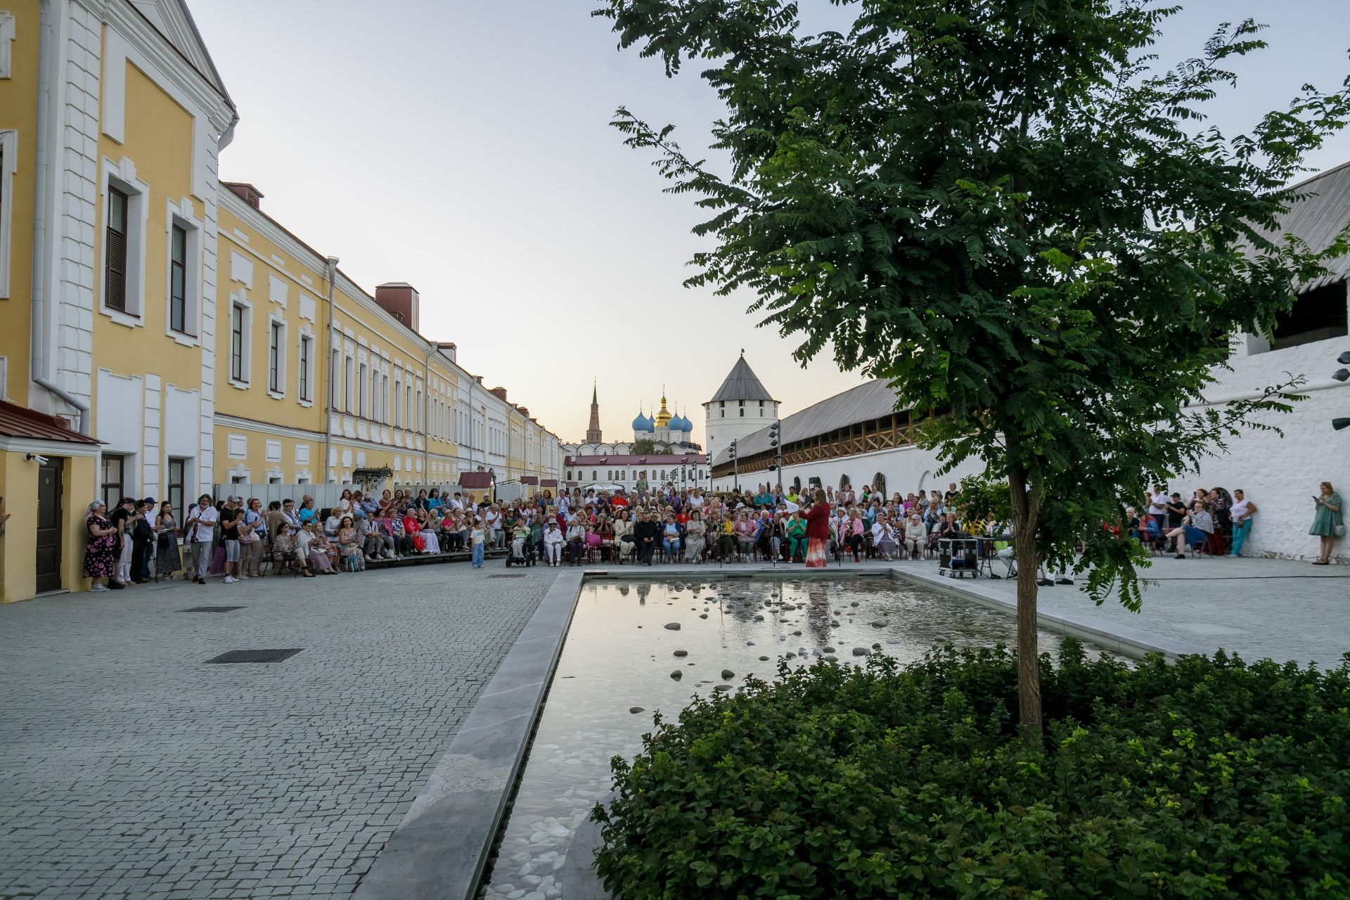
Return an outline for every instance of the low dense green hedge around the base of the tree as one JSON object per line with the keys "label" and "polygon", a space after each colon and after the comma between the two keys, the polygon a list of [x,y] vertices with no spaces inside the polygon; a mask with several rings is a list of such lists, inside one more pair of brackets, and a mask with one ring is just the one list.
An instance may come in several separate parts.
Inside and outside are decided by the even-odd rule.
{"label": "low dense green hedge around the base of the tree", "polygon": [[664,897],[1350,897],[1350,657],[818,664],[695,700],[628,764],[597,865]]}

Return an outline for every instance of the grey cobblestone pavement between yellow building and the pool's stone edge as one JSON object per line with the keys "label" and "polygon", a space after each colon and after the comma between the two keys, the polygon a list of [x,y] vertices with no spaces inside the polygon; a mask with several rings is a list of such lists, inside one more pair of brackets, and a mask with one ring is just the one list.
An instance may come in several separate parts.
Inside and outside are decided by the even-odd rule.
{"label": "grey cobblestone pavement between yellow building and the pool's stone edge", "polygon": [[[350,896],[556,569],[505,571],[0,606],[0,897]],[[304,650],[204,664],[252,648]]]}

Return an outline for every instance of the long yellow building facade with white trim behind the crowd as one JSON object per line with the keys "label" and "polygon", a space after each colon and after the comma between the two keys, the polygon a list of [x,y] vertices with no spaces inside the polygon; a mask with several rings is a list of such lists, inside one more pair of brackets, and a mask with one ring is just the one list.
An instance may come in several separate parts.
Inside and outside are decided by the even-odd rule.
{"label": "long yellow building facade with white trim behind the crowd", "polygon": [[363,290],[219,181],[238,120],[181,0],[0,0],[0,600],[88,586],[96,498],[558,478],[416,289]]}

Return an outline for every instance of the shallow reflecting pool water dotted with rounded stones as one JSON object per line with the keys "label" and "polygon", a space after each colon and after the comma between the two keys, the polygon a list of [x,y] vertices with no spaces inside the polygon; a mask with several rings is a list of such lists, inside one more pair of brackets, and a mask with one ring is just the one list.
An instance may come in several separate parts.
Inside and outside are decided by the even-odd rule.
{"label": "shallow reflecting pool water dotted with rounded stones", "polygon": [[[694,695],[734,690],[747,675],[772,679],[783,657],[792,667],[872,653],[913,661],[934,644],[992,646],[1014,636],[1006,613],[880,578],[590,582],[483,896],[564,896],[568,851],[594,849],[572,838],[609,795],[609,760],[641,749],[656,710],[670,721]],[[1057,636],[1041,633],[1042,650],[1057,646]]]}

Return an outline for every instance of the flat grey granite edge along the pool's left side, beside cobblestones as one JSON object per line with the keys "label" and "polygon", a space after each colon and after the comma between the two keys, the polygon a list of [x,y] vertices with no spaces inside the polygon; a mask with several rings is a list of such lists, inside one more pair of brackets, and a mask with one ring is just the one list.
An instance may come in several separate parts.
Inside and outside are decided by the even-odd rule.
{"label": "flat grey granite edge along the pool's left side, beside cobblestones", "polygon": [[583,572],[560,572],[352,900],[471,900],[520,776]]}

